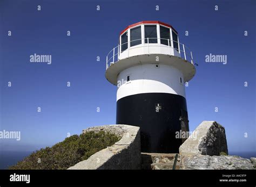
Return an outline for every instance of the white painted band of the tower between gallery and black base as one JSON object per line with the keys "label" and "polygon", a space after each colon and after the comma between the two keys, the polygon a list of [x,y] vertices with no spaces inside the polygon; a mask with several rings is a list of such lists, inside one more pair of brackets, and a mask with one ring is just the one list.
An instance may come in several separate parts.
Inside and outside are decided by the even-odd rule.
{"label": "white painted band of the tower between gallery and black base", "polygon": [[[130,76],[128,82],[127,76]],[[172,93],[186,98],[183,74],[165,64],[130,67],[123,70],[117,80],[117,100],[138,93]]]}

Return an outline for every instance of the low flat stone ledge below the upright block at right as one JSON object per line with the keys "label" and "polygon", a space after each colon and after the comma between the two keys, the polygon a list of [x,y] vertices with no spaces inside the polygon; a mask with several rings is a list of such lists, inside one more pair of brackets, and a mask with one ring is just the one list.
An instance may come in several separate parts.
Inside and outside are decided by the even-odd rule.
{"label": "low flat stone ledge below the upright block at right", "polygon": [[254,169],[249,159],[240,156],[209,156],[192,154],[181,156],[180,169]]}

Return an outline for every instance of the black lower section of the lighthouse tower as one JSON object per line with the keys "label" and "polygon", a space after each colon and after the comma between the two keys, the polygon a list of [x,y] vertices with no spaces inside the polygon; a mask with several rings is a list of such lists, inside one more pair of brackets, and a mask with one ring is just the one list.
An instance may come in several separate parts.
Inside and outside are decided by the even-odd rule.
{"label": "black lower section of the lighthouse tower", "polygon": [[139,93],[117,101],[117,124],[139,126],[141,150],[178,153],[188,130],[186,99],[172,93]]}

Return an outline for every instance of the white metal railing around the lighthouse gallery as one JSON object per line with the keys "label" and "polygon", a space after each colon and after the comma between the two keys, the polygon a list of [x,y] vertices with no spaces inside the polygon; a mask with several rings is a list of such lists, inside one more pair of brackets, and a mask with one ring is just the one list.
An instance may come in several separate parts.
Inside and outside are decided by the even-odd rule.
{"label": "white metal railing around the lighthouse gallery", "polygon": [[[156,43],[150,42],[150,40],[152,40],[152,39],[157,40],[157,42]],[[158,42],[159,40],[160,40],[160,43]],[[161,41],[166,41],[166,40],[167,40],[167,42],[166,42],[167,45],[161,44]],[[134,41],[141,41],[141,42],[140,42],[140,44],[130,46],[130,44]],[[176,46],[178,46],[178,48],[174,48],[174,44],[177,44]],[[127,48],[125,48],[122,51],[123,45],[127,45]],[[110,66],[111,66],[111,64],[113,64],[114,62],[119,61],[119,56],[123,52],[127,51],[127,57],[129,57],[129,51],[131,49],[141,48],[141,47],[147,47],[148,54],[151,54],[150,53],[150,48],[151,47],[168,47],[169,48],[169,55],[174,55],[174,49],[175,49],[177,51],[177,53],[180,55],[181,58],[183,58],[187,61],[190,61],[192,64],[194,64],[192,52],[191,52],[190,48],[188,48],[184,44],[181,44],[180,42],[170,40],[170,39],[166,39],[166,38],[142,38],[142,39],[127,41],[122,45],[118,45],[118,46],[114,47],[106,56],[106,69],[109,68],[109,63],[110,63]],[[173,49],[173,53],[172,53],[171,49]],[[163,54],[165,54],[165,53],[163,53]]]}

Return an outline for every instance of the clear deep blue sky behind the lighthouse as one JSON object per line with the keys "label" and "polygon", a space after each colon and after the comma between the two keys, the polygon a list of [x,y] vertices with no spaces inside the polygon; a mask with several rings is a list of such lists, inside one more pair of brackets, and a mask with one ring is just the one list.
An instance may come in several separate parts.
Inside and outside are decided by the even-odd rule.
{"label": "clear deep blue sky behind the lighthouse", "polygon": [[[255,8],[255,1],[1,1],[1,131],[21,131],[21,141],[0,140],[2,149],[34,150],[115,124],[106,54],[127,25],[159,20],[178,31],[199,64],[186,87],[190,130],[215,120],[226,129],[230,151],[256,150]],[[34,53],[52,55],[52,63],[31,63]],[[227,55],[227,64],[206,63],[210,53]]]}

